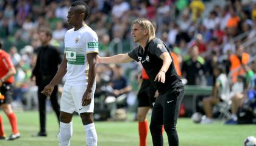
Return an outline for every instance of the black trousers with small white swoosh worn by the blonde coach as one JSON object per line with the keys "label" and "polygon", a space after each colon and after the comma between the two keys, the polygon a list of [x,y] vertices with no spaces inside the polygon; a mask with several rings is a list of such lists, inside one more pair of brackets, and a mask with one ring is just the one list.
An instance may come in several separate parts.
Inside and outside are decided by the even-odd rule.
{"label": "black trousers with small white swoosh worn by the blonde coach", "polygon": [[150,123],[154,146],[163,146],[162,126],[168,136],[169,145],[179,145],[176,123],[183,96],[184,88],[178,87],[170,89],[165,94],[160,94],[155,100]]}

